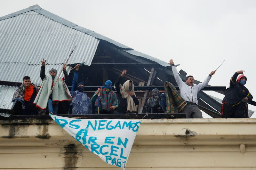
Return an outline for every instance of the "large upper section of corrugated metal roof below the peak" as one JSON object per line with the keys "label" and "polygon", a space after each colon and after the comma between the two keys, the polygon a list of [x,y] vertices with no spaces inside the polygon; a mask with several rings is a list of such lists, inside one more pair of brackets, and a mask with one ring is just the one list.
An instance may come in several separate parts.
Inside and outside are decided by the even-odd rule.
{"label": "large upper section of corrugated metal roof below the peak", "polygon": [[99,40],[35,11],[0,20],[1,63],[63,64],[76,45],[69,64],[90,65]]}

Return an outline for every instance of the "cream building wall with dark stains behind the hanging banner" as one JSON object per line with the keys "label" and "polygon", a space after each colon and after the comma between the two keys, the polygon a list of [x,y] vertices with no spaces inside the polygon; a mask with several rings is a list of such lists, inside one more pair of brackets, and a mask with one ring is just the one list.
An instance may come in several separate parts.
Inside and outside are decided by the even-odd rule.
{"label": "cream building wall with dark stains behind the hanging banner", "polygon": [[[0,169],[120,169],[52,120],[0,124]],[[144,119],[126,170],[256,170],[255,125],[255,119]]]}

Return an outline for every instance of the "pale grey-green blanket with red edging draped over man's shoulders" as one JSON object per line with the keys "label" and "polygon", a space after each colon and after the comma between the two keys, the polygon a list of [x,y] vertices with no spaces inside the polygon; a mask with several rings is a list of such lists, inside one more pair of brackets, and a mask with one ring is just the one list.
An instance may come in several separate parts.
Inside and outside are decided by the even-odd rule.
{"label": "pale grey-green blanket with red edging draped over man's shoulders", "polygon": [[65,84],[63,78],[59,78],[58,80],[55,78],[53,82],[52,76],[50,74],[46,74],[42,84],[39,87],[39,91],[36,94],[36,99],[34,101],[36,107],[46,109],[50,92],[52,90],[52,85],[55,83],[55,81],[57,81],[57,83],[52,91],[52,101],[72,100],[68,86]]}

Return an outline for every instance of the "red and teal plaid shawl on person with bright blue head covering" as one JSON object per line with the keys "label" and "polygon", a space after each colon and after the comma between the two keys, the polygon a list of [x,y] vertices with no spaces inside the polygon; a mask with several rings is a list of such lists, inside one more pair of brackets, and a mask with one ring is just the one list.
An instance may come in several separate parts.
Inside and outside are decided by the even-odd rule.
{"label": "red and teal plaid shawl on person with bright blue head covering", "polygon": [[[116,101],[117,101],[116,100],[116,93],[114,93],[112,89],[111,89],[110,92],[108,92],[108,96],[107,96],[106,88],[101,89],[101,91],[100,91],[100,104],[101,104],[102,110],[110,111],[109,107],[115,106]],[[94,106],[98,107],[98,100],[95,101]]]}

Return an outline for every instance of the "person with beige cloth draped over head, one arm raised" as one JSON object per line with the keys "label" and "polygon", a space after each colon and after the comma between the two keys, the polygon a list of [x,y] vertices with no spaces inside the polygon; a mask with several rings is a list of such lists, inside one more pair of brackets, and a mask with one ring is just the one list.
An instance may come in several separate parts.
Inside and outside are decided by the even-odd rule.
{"label": "person with beige cloth draped over head, one arm raised", "polygon": [[115,83],[116,93],[119,101],[117,112],[121,114],[136,113],[136,105],[139,105],[139,100],[136,98],[134,92],[134,85],[132,80],[127,80],[121,85],[120,81],[123,79],[127,70],[124,70],[117,78]]}

